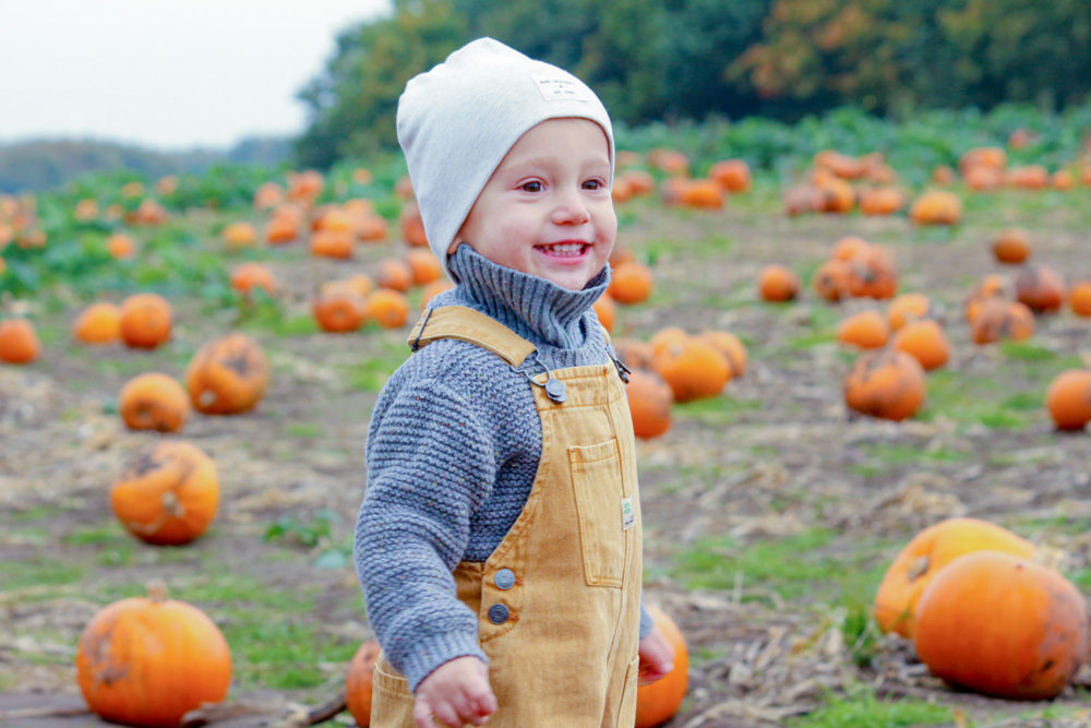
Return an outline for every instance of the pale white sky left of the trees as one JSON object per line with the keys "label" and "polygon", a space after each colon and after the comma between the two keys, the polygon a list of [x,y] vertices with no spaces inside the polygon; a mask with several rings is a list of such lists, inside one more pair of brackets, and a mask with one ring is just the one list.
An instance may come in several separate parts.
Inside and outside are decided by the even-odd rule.
{"label": "pale white sky left of the trees", "polygon": [[0,144],[227,147],[302,131],[297,92],[388,0],[15,0],[0,13]]}

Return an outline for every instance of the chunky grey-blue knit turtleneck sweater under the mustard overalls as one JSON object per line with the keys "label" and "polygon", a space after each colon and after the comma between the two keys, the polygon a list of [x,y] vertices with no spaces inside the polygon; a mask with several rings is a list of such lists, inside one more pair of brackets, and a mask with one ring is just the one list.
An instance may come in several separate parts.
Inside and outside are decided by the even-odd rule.
{"label": "chunky grey-blue knit turtleneck sweater under the mustard overalls", "polygon": [[[492,317],[535,344],[550,369],[611,360],[591,308],[609,268],[572,291],[465,244],[449,262],[458,285],[433,308]],[[541,371],[533,357],[523,368]],[[487,659],[478,617],[455,597],[452,571],[485,561],[530,494],[542,444],[531,386],[495,354],[440,339],[410,356],[375,404],[356,568],[372,629],[410,690],[449,659]],[[643,612],[642,637],[651,625]]]}

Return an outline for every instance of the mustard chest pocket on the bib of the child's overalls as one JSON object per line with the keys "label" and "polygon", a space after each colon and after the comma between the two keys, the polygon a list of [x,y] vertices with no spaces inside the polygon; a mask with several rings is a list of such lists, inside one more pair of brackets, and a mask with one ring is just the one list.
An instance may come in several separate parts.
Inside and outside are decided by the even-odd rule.
{"label": "mustard chest pocket on the bib of the child's overalls", "polygon": [[584,577],[590,586],[621,588],[625,573],[625,487],[618,439],[568,447],[568,468],[579,521]]}

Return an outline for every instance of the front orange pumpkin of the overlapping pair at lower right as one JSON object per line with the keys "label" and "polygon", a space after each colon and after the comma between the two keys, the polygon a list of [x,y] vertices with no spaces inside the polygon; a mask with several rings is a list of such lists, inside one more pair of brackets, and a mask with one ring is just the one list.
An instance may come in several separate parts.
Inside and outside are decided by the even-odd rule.
{"label": "front orange pumpkin of the overlapping pair at lower right", "polygon": [[914,645],[952,685],[1048,700],[1088,657],[1087,601],[1053,569],[999,551],[968,553],[921,595]]}

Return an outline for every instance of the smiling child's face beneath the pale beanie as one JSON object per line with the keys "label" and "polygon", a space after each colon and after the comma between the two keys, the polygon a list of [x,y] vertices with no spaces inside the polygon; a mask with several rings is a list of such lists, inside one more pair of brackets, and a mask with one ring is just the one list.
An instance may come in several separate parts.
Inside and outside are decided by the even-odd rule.
{"label": "smiling child's face beneath the pale beanie", "polygon": [[579,290],[618,237],[606,132],[550,119],[508,150],[455,238],[493,263]]}

